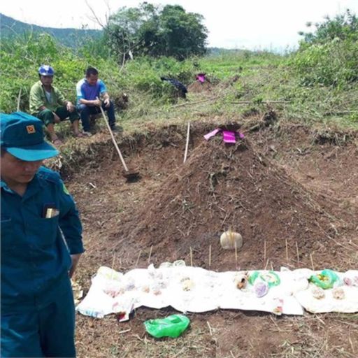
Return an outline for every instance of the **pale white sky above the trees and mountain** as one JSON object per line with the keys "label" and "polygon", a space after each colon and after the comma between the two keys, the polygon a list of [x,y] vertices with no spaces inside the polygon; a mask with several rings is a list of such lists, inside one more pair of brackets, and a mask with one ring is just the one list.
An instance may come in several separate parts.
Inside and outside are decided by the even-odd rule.
{"label": "pale white sky above the trees and mountain", "polygon": [[[99,29],[90,7],[102,23],[136,0],[3,0],[0,13],[22,22],[45,27],[87,26]],[[297,47],[299,31],[307,22],[322,22],[346,8],[358,15],[358,0],[158,0],[160,5],[178,4],[187,12],[203,15],[208,46],[283,52]],[[88,6],[88,5],[89,6]]]}

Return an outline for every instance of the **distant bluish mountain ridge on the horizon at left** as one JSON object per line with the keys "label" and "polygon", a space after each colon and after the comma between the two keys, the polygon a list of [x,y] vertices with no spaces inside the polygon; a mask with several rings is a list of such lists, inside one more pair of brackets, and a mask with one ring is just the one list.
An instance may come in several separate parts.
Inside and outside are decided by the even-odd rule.
{"label": "distant bluish mountain ridge on the horizon at left", "polygon": [[55,27],[41,27],[34,24],[17,21],[0,13],[1,39],[6,39],[16,35],[33,32],[38,34],[50,34],[62,45],[77,47],[83,45],[89,38],[99,38],[103,31],[90,29],[57,29]]}

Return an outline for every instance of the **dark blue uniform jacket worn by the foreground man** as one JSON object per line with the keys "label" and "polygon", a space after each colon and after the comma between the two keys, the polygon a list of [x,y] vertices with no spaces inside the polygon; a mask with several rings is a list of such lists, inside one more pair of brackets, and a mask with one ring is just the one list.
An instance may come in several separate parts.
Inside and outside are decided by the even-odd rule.
{"label": "dark blue uniform jacket worn by the foreground man", "polygon": [[78,211],[58,173],[41,167],[23,196],[1,180],[1,314],[48,305],[66,285],[70,254],[83,251]]}

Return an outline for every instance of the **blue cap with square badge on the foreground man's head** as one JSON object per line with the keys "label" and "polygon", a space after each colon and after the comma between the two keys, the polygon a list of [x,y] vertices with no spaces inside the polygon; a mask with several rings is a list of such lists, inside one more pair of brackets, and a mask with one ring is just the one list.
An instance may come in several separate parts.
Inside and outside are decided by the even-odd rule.
{"label": "blue cap with square badge on the foreground man's head", "polygon": [[1,148],[26,162],[55,157],[59,151],[43,138],[43,123],[23,112],[0,113]]}

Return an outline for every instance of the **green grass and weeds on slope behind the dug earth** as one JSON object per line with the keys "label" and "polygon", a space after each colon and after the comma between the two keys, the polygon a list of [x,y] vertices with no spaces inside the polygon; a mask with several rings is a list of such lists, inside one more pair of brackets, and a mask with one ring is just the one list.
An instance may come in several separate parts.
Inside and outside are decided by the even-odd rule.
{"label": "green grass and weeds on slope behind the dug earth", "polygon": [[[340,46],[342,48],[342,44]],[[47,62],[55,67],[54,84],[71,100],[76,98],[75,86],[83,77],[83,69],[91,64],[99,69],[100,78],[113,99],[122,92],[129,94],[129,108],[117,113],[124,127],[214,117],[241,120],[248,113],[259,116],[273,108],[280,120],[358,128],[357,81],[340,87],[319,83],[303,85],[306,74],[299,72],[303,71],[301,67],[294,67],[295,55],[238,51],[194,57],[184,62],[167,57],[145,57],[129,61],[121,68],[113,58],[93,58],[88,53],[81,57],[78,53],[57,47],[49,36],[16,40],[3,46],[0,50],[1,111],[16,110],[20,89],[20,109],[27,110],[29,88],[38,80],[39,64]],[[304,58],[302,53],[298,55]],[[213,83],[212,91],[189,92],[187,101],[176,99],[173,87],[160,80],[160,76],[172,76],[189,85],[200,71],[207,73]],[[235,76],[238,80],[232,83]]]}

